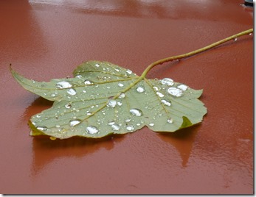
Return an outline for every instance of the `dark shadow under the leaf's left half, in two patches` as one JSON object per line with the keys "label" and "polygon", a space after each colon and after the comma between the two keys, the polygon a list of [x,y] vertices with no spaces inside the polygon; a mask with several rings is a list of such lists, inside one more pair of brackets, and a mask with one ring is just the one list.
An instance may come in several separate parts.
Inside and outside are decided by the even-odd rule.
{"label": "dark shadow under the leaf's left half, in two patches", "polygon": [[[52,107],[52,101],[42,97],[35,98],[24,112],[23,118],[28,121],[32,115]],[[100,149],[110,151],[116,143],[124,140],[122,135],[108,135],[99,139],[71,137],[65,140],[50,140],[49,136],[36,136],[32,139],[32,176],[36,176],[46,165],[61,157],[86,157]]]}

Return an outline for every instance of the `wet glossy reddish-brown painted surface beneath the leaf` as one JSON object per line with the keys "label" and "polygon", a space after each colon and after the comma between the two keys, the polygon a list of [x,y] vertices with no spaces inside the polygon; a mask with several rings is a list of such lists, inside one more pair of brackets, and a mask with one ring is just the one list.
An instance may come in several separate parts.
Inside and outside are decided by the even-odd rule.
{"label": "wet glossy reddish-brown painted surface beneath the leaf", "polygon": [[51,102],[30,79],[71,76],[84,60],[136,74],[155,60],[252,28],[243,1],[0,1],[1,193],[253,193],[253,36],[154,68],[195,89],[204,121],[173,134],[86,140],[30,137],[30,116]]}

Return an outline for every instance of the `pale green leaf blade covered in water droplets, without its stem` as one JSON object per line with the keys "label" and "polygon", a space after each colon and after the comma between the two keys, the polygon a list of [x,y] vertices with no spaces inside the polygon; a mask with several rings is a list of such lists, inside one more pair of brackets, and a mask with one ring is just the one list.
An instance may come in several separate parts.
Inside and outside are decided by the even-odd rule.
{"label": "pale green leaf blade covered in water droplets, without its stem", "polygon": [[146,79],[110,62],[84,62],[73,72],[74,78],[50,82],[11,72],[25,89],[54,101],[52,108],[32,116],[33,136],[103,137],[135,132],[143,126],[155,132],[175,132],[200,123],[207,113],[197,99],[202,90],[169,78]]}

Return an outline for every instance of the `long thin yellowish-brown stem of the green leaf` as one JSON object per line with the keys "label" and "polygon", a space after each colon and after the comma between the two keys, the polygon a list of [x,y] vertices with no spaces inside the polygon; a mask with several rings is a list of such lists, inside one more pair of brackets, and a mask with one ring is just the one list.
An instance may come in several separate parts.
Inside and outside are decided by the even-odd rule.
{"label": "long thin yellowish-brown stem of the green leaf", "polygon": [[156,65],[161,65],[161,64],[163,64],[163,63],[165,63],[165,62],[171,62],[171,61],[173,61],[173,60],[181,60],[181,59],[183,59],[183,58],[185,58],[185,57],[191,57],[191,56],[196,55],[196,54],[199,54],[199,53],[201,53],[201,52],[203,52],[203,51],[207,51],[207,50],[209,50],[209,49],[212,49],[212,48],[214,48],[215,46],[219,46],[219,45],[221,45],[222,43],[226,43],[226,42],[229,41],[229,40],[236,39],[237,37],[240,37],[240,36],[242,36],[242,35],[249,35],[249,34],[252,33],[252,32],[253,32],[253,29],[248,29],[248,30],[246,30],[246,31],[244,31],[244,32],[240,32],[240,33],[238,33],[238,34],[236,34],[236,35],[232,35],[232,36],[226,37],[226,38],[224,38],[223,40],[219,40],[218,42],[212,43],[212,44],[210,44],[210,45],[208,45],[208,46],[205,46],[205,47],[203,47],[203,48],[201,48],[201,49],[197,49],[197,50],[195,50],[195,51],[191,51],[191,52],[189,52],[189,53],[180,54],[180,55],[173,56],[173,57],[166,57],[166,58],[164,58],[164,59],[162,59],[162,60],[158,60],[158,61],[156,61],[156,62],[153,62],[153,63],[151,63],[151,65],[148,65],[148,68],[146,68],[145,71],[143,71],[143,73],[142,73],[142,75],[139,77],[139,79],[144,79],[145,76],[148,74],[148,72],[151,71],[151,69],[152,69],[153,67],[155,67]]}

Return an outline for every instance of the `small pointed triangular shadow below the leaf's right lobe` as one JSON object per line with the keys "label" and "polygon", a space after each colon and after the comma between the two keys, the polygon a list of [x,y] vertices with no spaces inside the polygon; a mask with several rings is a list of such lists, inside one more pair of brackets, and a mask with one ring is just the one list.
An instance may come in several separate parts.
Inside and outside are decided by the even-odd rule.
{"label": "small pointed triangular shadow below the leaf's right lobe", "polygon": [[187,167],[187,162],[190,158],[193,144],[200,127],[200,124],[197,124],[173,133],[161,132],[157,135],[161,140],[170,143],[177,151],[179,151],[183,168]]}

